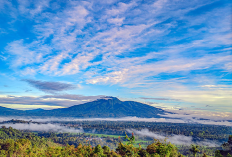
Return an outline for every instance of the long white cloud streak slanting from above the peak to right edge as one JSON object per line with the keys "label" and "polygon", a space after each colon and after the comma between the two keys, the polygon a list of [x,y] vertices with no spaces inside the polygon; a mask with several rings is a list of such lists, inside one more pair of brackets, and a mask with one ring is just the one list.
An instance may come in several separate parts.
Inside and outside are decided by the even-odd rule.
{"label": "long white cloud streak slanting from above the peak to right edge", "polygon": [[[118,68],[121,67],[115,67],[116,71],[106,74],[105,77],[99,77],[96,79],[91,79],[88,82],[89,83],[125,83],[127,84],[133,84],[134,82],[131,82],[132,78],[140,78],[140,83],[143,83],[144,80],[149,76],[155,76],[160,73],[174,73],[174,72],[182,72],[182,71],[191,71],[191,70],[199,70],[199,69],[207,69],[213,65],[220,64],[222,62],[227,63],[232,59],[231,55],[207,55],[202,58],[198,59],[189,59],[189,58],[180,58],[180,59],[166,59],[164,61],[158,61],[155,63],[150,64],[141,64],[141,61],[138,62],[140,64],[135,65],[128,65],[127,63],[124,64],[125,69],[122,69],[121,71],[117,71]],[[126,62],[129,64],[133,62],[135,59],[132,58],[131,61],[128,59],[125,59]],[[111,60],[112,62],[112,60]],[[121,63],[123,63],[123,59],[121,60]],[[135,62],[136,63],[136,62]],[[118,62],[117,64],[120,64]],[[129,81],[129,82],[126,82]]]}

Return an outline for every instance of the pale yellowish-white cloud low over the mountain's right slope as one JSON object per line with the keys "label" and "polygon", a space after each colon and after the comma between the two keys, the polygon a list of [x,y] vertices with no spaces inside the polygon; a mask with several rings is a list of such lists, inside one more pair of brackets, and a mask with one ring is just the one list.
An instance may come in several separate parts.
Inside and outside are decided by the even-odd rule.
{"label": "pale yellowish-white cloud low over the mountain's right slope", "polygon": [[[198,78],[201,79],[201,78]],[[157,82],[148,82],[144,83],[142,89],[132,90],[131,92],[139,95],[144,95],[146,97],[165,97],[169,99],[179,99],[180,101],[168,103],[168,102],[159,102],[164,106],[173,107],[173,105],[180,104],[181,107],[195,106],[197,110],[202,109],[204,112],[206,110],[218,111],[218,112],[231,112],[231,88],[230,86],[226,87],[221,86],[214,88],[206,87],[196,87],[189,86],[186,87],[183,83],[194,83],[194,80],[168,80],[168,81],[159,81]],[[201,84],[208,82],[203,81]],[[130,86],[129,86],[130,87]],[[139,85],[136,84],[136,87]],[[209,105],[211,108],[206,108],[205,106]],[[195,108],[191,108],[194,110]]]}

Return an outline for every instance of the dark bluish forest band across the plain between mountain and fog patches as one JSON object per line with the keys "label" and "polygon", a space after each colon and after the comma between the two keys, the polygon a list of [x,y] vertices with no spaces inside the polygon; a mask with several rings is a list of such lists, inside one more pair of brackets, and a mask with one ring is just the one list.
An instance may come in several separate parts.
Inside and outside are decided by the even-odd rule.
{"label": "dark bluish forest band across the plain between mountain and fog patches", "polygon": [[232,134],[231,126],[188,124],[188,123],[162,123],[162,122],[133,122],[133,121],[53,121],[34,122],[24,120],[10,120],[0,123],[36,123],[36,124],[58,124],[69,128],[83,128],[85,133],[125,135],[127,129],[142,130],[147,128],[151,132],[168,135],[185,135],[193,137],[193,140],[207,139],[217,140],[220,143],[226,142],[228,136]]}

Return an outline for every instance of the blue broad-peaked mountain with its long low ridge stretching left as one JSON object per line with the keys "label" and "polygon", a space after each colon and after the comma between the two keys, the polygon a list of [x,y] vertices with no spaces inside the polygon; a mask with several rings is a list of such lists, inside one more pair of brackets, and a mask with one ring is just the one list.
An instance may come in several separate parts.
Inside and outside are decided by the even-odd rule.
{"label": "blue broad-peaked mountain with its long low ridge stretching left", "polygon": [[143,118],[158,118],[158,114],[165,114],[166,111],[143,103],[134,101],[120,101],[115,97],[98,99],[93,102],[75,105],[68,108],[53,110],[29,110],[21,111],[4,108],[1,115],[9,116],[54,116],[54,117],[77,117],[77,118],[106,118],[106,117],[128,117],[136,116]]}

